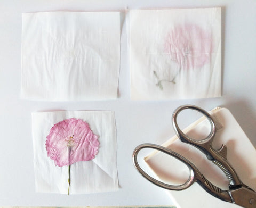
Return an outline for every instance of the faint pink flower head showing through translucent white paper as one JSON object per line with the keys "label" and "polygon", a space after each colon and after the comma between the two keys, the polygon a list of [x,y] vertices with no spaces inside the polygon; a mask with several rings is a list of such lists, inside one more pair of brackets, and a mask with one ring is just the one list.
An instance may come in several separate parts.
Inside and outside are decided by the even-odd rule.
{"label": "faint pink flower head showing through translucent white paper", "polygon": [[210,62],[212,38],[196,24],[176,26],[165,39],[165,52],[181,69],[201,68]]}

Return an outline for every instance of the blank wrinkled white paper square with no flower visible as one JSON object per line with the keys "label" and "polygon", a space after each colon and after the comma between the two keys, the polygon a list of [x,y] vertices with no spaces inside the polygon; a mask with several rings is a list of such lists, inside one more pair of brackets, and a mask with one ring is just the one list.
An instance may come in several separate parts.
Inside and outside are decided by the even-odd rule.
{"label": "blank wrinkled white paper square with no flower visible", "polygon": [[22,14],[21,98],[116,99],[119,12]]}

